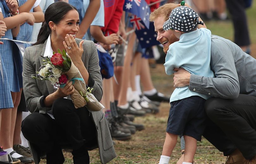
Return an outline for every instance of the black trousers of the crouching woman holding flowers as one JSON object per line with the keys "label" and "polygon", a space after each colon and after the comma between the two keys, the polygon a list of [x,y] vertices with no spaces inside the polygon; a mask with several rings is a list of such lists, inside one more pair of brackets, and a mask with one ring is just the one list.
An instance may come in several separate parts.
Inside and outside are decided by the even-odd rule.
{"label": "black trousers of the crouching woman holding flowers", "polygon": [[85,144],[95,142],[96,130],[87,108],[76,109],[71,100],[60,98],[54,101],[52,111],[55,119],[38,112],[28,115],[21,126],[24,137],[46,152],[47,164],[64,162],[60,147],[64,143],[71,144],[73,159],[83,155],[83,163],[89,163]]}

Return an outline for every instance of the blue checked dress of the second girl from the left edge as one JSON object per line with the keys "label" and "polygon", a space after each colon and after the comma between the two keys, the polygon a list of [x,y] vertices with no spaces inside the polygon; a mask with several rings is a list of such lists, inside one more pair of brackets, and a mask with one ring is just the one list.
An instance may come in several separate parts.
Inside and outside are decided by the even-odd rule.
{"label": "blue checked dress of the second girl from the left edge", "polygon": [[[8,17],[8,12],[4,10],[2,2],[0,2],[0,7],[3,17]],[[2,38],[13,39],[11,29],[7,30]],[[15,44],[12,41],[4,40],[3,42],[4,44],[0,46],[0,54],[8,77],[10,91],[19,92],[22,88],[22,58],[19,50],[13,50]]]}

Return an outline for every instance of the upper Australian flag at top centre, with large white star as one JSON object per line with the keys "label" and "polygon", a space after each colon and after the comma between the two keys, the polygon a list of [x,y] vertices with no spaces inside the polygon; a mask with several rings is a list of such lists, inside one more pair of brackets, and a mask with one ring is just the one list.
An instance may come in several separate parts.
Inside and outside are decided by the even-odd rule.
{"label": "upper Australian flag at top centre, with large white star", "polygon": [[144,23],[143,26],[149,28],[150,9],[145,0],[125,0],[123,9],[139,17]]}

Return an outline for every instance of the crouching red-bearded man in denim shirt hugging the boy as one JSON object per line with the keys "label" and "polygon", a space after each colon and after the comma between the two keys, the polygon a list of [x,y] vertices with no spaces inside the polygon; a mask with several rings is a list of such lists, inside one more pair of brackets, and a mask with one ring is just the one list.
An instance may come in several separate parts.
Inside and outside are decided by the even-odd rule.
{"label": "crouching red-bearded man in denim shirt hugging the boy", "polygon": [[[150,15],[165,53],[178,40],[172,30],[163,30],[163,23],[178,6],[165,4]],[[215,78],[175,68],[174,87],[189,86],[191,91],[212,96],[205,103],[209,119],[203,136],[229,156],[226,164],[256,162],[256,60],[233,42],[212,35],[210,66]]]}

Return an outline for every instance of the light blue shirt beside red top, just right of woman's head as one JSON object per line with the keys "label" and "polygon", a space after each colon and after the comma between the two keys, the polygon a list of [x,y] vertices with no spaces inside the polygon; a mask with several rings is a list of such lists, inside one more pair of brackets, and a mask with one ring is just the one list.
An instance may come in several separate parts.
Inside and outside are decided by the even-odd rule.
{"label": "light blue shirt beside red top, just right of woman's head", "polygon": [[[83,1],[83,9],[82,9],[82,16],[84,17],[84,14],[89,6],[89,3],[90,1]],[[94,20],[92,21],[91,23],[91,26],[101,26],[101,27],[104,27],[104,20],[105,20],[105,17],[104,17],[104,2],[103,0],[101,0],[101,6],[100,6],[100,9],[98,11],[98,13],[96,14]],[[91,33],[90,33],[90,27],[88,28],[87,32],[85,33],[85,35],[83,36],[83,39],[85,40],[92,40],[92,36],[91,36]]]}

